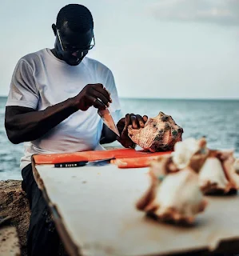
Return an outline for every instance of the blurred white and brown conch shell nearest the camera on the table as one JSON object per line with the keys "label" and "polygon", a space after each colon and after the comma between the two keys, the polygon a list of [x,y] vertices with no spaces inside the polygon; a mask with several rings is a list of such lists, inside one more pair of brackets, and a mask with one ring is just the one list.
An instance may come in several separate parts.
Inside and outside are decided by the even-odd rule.
{"label": "blurred white and brown conch shell nearest the camera on the table", "polygon": [[198,175],[189,167],[164,176],[157,168],[149,171],[151,186],[137,202],[137,209],[166,222],[192,224],[207,202],[198,186]]}

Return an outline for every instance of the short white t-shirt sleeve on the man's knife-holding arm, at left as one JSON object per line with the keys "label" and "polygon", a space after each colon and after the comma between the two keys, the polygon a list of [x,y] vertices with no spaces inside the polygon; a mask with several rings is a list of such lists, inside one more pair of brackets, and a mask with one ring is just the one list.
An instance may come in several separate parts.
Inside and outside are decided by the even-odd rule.
{"label": "short white t-shirt sleeve on the man's knife-holding arm, at left", "polygon": [[12,76],[6,106],[26,106],[36,110],[38,99],[33,70],[25,60],[21,59]]}

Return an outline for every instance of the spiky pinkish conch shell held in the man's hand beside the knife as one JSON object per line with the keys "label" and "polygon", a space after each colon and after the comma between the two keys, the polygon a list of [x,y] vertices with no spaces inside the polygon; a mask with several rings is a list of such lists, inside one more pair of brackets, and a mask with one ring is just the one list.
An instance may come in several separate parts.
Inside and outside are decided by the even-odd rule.
{"label": "spiky pinkish conch shell held in the man's hand beside the knife", "polygon": [[183,129],[173,118],[160,112],[157,117],[149,118],[144,128],[128,127],[129,138],[138,146],[151,152],[173,150],[176,142],[181,141]]}

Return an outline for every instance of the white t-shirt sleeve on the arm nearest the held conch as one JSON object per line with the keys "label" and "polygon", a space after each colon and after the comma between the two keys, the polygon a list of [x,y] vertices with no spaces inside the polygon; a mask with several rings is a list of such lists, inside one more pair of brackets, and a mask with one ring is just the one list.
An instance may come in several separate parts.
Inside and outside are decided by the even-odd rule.
{"label": "white t-shirt sleeve on the arm nearest the held conch", "polygon": [[110,92],[110,98],[112,98],[112,103],[110,103],[110,113],[114,118],[115,122],[121,118],[121,106],[118,98],[118,91],[114,82],[114,75],[109,70],[106,78],[106,89]]}

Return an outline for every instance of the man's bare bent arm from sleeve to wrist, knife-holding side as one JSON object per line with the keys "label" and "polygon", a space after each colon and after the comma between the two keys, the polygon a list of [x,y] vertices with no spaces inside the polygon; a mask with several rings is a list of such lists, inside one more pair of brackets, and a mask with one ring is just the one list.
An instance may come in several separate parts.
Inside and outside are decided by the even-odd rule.
{"label": "man's bare bent arm from sleeve to wrist, knife-holding side", "polygon": [[77,110],[71,99],[42,111],[23,106],[6,106],[7,137],[14,144],[33,141],[42,137]]}

